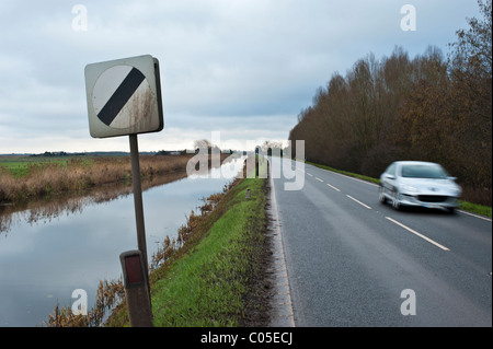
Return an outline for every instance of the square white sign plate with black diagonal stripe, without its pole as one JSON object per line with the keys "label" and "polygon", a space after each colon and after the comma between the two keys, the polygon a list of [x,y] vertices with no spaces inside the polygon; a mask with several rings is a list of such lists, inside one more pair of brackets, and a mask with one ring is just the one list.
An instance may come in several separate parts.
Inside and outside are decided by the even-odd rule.
{"label": "square white sign plate with black diagonal stripe, without its pole", "polygon": [[92,63],[84,74],[92,137],[163,129],[158,59],[146,55]]}

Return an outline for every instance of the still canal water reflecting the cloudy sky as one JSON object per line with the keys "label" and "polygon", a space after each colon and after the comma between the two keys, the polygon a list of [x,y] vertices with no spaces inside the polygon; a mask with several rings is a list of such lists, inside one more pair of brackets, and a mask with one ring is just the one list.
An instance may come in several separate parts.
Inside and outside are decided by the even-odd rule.
{"label": "still canal water reflecting the cloudy sky", "polygon": [[[183,172],[142,182],[148,256],[176,234],[203,198],[232,179],[211,177]],[[129,185],[105,186],[80,197],[1,207],[0,326],[42,325],[57,300],[70,307],[76,289],[94,304],[99,281],[119,278],[119,254],[137,248],[129,194]]]}

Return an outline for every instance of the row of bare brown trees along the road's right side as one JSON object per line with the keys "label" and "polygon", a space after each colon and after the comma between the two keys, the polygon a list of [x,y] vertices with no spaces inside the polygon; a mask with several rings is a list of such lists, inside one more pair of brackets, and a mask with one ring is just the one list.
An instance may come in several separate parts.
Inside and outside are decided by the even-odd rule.
{"label": "row of bare brown trees along the road's right side", "polygon": [[410,59],[358,60],[334,73],[302,109],[289,140],[305,140],[308,161],[378,177],[395,160],[443,164],[465,199],[491,206],[492,1],[468,19],[447,58],[436,47]]}

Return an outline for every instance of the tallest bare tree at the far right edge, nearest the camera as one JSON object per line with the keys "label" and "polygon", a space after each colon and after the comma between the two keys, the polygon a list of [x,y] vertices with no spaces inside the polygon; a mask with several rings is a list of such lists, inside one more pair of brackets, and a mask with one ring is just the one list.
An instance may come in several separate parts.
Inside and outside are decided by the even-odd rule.
{"label": "tallest bare tree at the far right edge, nearest the camera", "polygon": [[471,185],[492,185],[492,1],[478,1],[481,19],[468,19],[451,44],[450,103],[455,114],[458,156],[467,159]]}

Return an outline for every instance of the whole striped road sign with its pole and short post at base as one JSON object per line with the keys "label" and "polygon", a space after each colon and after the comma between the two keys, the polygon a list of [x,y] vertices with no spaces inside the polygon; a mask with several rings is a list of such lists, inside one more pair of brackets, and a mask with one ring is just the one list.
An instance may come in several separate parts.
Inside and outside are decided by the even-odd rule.
{"label": "whole striped road sign with its pole and short post at base", "polygon": [[[134,325],[152,326],[137,135],[159,132],[164,127],[159,61],[147,55],[92,63],[85,67],[84,74],[91,136],[107,138],[128,135],[129,137],[139,254],[136,257],[135,251],[129,252],[130,258],[124,253],[125,258],[121,256],[121,260],[130,325],[133,325],[131,318],[138,318]],[[135,258],[140,260],[139,264],[136,264]],[[141,270],[136,267],[140,265]],[[131,276],[137,275],[142,277],[137,278],[138,282],[133,282]],[[127,289],[133,291],[127,292]],[[147,311],[142,312],[142,309]],[[133,312],[135,314],[130,314]]]}

